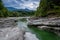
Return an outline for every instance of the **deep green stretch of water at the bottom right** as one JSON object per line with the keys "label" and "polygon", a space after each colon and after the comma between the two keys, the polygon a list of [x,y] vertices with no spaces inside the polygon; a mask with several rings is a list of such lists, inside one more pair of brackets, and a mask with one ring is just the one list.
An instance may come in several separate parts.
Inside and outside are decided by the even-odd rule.
{"label": "deep green stretch of water at the bottom right", "polygon": [[29,27],[32,32],[34,32],[40,40],[60,40],[60,37],[52,32],[47,32],[44,30],[39,30],[36,27]]}

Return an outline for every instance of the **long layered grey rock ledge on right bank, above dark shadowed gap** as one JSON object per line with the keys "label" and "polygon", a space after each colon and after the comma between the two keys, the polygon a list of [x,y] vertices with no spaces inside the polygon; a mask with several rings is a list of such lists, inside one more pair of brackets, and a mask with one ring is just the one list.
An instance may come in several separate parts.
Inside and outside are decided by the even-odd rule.
{"label": "long layered grey rock ledge on right bank, above dark shadowed gap", "polygon": [[60,18],[39,18],[36,20],[29,20],[28,25],[42,25],[42,26],[59,26]]}

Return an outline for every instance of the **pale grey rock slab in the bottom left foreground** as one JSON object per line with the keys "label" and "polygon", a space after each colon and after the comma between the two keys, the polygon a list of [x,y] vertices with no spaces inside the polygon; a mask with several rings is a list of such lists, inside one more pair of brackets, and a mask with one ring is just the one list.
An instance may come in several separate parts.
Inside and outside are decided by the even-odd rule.
{"label": "pale grey rock slab in the bottom left foreground", "polygon": [[18,27],[2,28],[0,40],[23,40],[23,32]]}

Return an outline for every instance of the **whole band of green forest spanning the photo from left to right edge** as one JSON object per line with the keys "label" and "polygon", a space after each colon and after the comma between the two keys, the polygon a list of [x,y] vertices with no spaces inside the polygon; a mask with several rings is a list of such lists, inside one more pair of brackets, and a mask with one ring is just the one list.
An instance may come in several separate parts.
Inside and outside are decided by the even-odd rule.
{"label": "whole band of green forest spanning the photo from left to right edge", "polygon": [[39,7],[36,11],[9,11],[2,0],[0,0],[0,17],[20,17],[36,16],[45,17],[48,15],[60,16],[60,0],[40,0]]}

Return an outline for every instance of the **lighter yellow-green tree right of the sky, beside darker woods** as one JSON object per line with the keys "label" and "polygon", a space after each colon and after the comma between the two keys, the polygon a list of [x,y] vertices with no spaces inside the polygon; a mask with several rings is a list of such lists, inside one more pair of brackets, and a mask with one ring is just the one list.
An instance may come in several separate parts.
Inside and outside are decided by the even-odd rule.
{"label": "lighter yellow-green tree right of the sky, beside darker woods", "polygon": [[44,16],[46,14],[46,11],[48,10],[47,8],[48,8],[48,0],[41,0],[35,15]]}

